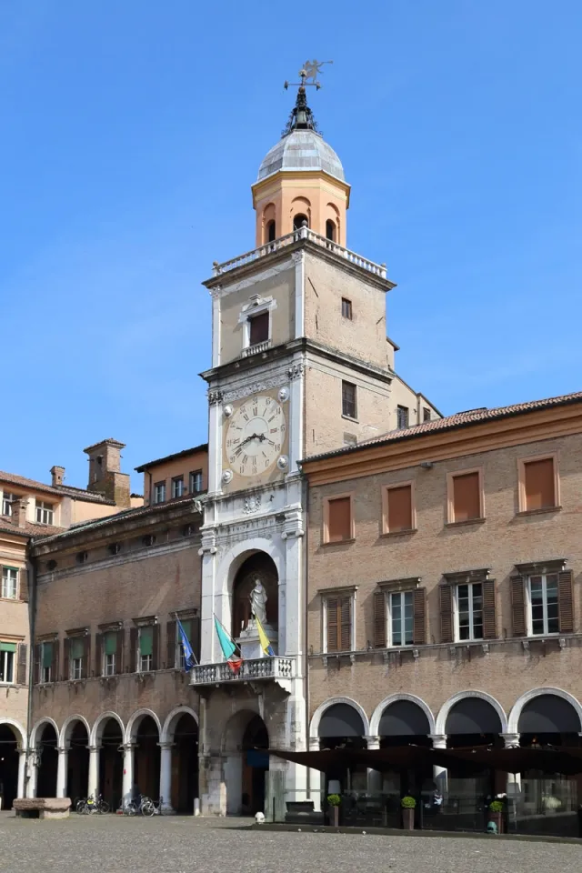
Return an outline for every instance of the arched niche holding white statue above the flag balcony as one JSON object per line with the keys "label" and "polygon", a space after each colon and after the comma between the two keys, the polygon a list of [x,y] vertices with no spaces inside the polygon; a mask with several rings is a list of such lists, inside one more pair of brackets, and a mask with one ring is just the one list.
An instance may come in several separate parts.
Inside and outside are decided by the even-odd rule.
{"label": "arched niche holding white statue above the flag balcony", "polygon": [[277,629],[278,595],[278,577],[273,559],[265,552],[256,552],[247,557],[236,573],[233,586],[233,637],[240,637],[255,615],[264,627]]}

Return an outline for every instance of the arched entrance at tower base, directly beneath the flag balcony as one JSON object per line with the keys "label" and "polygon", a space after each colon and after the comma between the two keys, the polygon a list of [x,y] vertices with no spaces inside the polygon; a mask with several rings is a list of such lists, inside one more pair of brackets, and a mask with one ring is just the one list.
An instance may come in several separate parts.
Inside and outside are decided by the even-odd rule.
{"label": "arched entrance at tower base, directly beneath the flag balcony", "polygon": [[255,712],[242,710],[226,725],[224,781],[226,815],[265,811],[265,774],[269,768],[266,724]]}

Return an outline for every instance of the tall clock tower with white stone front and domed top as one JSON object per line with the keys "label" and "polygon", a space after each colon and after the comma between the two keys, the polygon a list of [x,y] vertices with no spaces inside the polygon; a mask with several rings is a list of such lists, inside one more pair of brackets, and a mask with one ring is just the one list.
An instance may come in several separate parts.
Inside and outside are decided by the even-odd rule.
{"label": "tall clock tower with white stone front and domed top", "polygon": [[[350,187],[317,131],[305,77],[252,186],[256,248],[214,265],[209,468],[202,528],[203,812],[254,814],[306,798],[306,493],[298,461],[396,426],[420,395],[393,368],[386,265],[346,247]],[[407,393],[406,393],[407,392]],[[426,402],[423,401],[422,402]],[[431,407],[432,409],[433,407]],[[261,646],[251,591],[265,592]],[[346,584],[349,580],[338,580]],[[243,658],[223,657],[216,623]],[[262,623],[261,623],[262,624]]]}

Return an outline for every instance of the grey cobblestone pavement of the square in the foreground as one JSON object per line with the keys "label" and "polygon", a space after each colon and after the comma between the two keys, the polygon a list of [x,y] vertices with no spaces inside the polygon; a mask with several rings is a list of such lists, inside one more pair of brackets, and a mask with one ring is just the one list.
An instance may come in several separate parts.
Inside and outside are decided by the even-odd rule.
{"label": "grey cobblestone pavement of the square in the foreground", "polygon": [[580,873],[582,846],[247,830],[240,819],[0,817],[1,873]]}

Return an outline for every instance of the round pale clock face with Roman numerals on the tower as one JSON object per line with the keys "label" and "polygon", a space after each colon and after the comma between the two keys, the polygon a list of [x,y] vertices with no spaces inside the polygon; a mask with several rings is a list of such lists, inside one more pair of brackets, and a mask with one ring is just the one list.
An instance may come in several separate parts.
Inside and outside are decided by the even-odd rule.
{"label": "round pale clock face with Roman numerals on the tower", "polygon": [[260,476],[276,464],[285,435],[283,407],[266,395],[247,397],[228,423],[228,463],[239,476]]}

